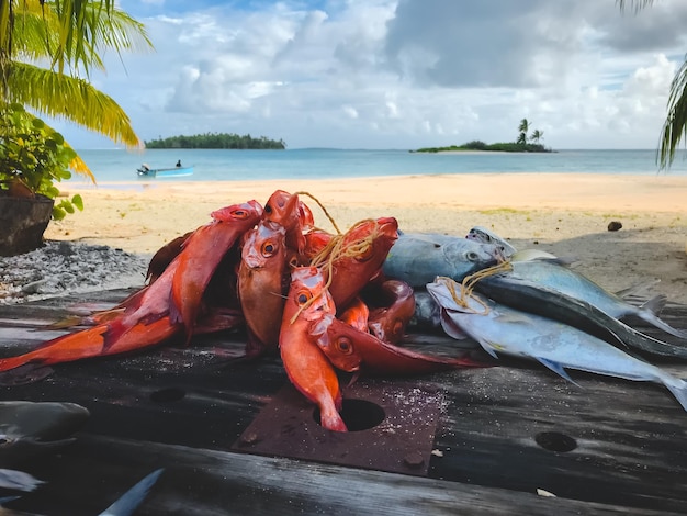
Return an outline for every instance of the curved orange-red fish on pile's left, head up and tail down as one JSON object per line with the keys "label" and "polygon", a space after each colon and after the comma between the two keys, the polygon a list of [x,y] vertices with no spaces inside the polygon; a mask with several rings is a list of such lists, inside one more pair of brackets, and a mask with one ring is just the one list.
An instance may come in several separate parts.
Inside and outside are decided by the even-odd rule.
{"label": "curved orange-red fish on pile's left, head up and tail down", "polygon": [[193,335],[201,299],[217,266],[237,239],[262,215],[257,201],[234,204],[212,213],[213,222],[199,227],[177,257],[170,318],[183,323],[187,341]]}

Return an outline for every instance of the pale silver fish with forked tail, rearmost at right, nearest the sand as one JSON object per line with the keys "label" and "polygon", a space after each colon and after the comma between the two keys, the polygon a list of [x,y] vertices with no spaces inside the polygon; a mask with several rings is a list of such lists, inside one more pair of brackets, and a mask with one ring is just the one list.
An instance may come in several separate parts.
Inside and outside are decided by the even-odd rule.
{"label": "pale silver fish with forked tail, rearmost at right, nearest the sand", "polygon": [[656,315],[656,312],[665,303],[665,296],[663,295],[649,300],[642,306],[634,306],[616,294],[608,292],[579,272],[555,261],[514,261],[511,265],[513,276],[585,301],[611,317],[637,316],[671,335],[687,338],[687,332],[674,328]]}

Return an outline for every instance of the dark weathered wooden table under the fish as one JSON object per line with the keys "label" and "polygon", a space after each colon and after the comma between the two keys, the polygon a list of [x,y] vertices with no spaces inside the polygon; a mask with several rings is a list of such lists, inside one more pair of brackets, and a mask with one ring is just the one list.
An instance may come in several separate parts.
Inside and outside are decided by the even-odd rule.
{"label": "dark weathered wooden table under the fish", "polygon": [[[3,306],[3,355],[59,335],[40,328],[68,307],[104,307],[126,294]],[[687,307],[668,305],[663,315],[687,327]],[[407,340],[443,352],[461,345],[421,333]],[[72,445],[24,464],[46,484],[8,506],[95,515],[165,468],[136,514],[687,513],[687,414],[662,385],[572,371],[576,386],[538,364],[507,360],[412,379],[361,379],[345,397],[396,396],[407,414],[345,436],[309,416],[299,419],[313,408],[290,393],[279,358],[241,360],[244,343],[240,333],[198,337],[190,347],[55,366],[41,381],[0,388],[2,400],[70,401],[91,413]],[[687,378],[685,364],[653,362]],[[247,431],[268,410],[281,411],[266,420],[286,439],[283,452],[264,455],[263,436]],[[429,437],[419,435],[410,453],[378,439],[416,430]],[[292,446],[290,435],[300,436]],[[354,450],[353,462],[365,465],[347,465],[346,451],[340,461],[336,453],[318,459],[335,445]],[[293,458],[304,449],[314,458]],[[402,472],[388,471],[394,461]]]}

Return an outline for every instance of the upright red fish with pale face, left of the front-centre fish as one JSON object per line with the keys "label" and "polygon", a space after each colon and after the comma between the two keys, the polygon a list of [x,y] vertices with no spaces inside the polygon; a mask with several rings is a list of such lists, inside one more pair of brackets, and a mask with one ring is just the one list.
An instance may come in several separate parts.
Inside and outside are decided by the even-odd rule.
{"label": "upright red fish with pale face, left of the front-centre fish", "polygon": [[241,249],[238,296],[246,324],[259,341],[254,343],[256,352],[260,345],[277,347],[279,344],[285,301],[284,274],[289,265],[285,236],[281,224],[261,221],[248,233]]}

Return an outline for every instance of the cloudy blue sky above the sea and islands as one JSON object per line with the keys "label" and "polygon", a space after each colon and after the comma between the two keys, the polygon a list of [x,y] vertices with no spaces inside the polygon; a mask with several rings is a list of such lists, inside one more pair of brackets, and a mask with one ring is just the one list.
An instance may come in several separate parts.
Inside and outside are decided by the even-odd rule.
{"label": "cloudy blue sky above the sea and islands", "polygon": [[[143,141],[237,133],[289,148],[513,142],[656,148],[687,52],[687,2],[120,0],[155,51],[91,82]],[[54,125],[76,148],[114,143]]]}

